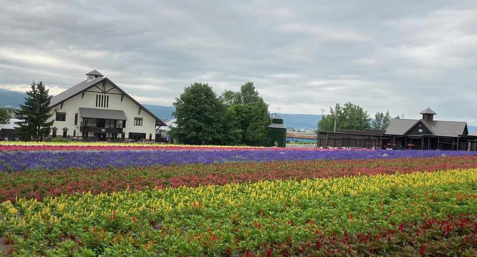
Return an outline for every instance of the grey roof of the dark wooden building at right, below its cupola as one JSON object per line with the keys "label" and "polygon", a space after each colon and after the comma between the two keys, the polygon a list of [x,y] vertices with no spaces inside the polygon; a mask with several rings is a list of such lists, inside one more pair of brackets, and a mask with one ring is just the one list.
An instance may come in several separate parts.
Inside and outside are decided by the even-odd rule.
{"label": "grey roof of the dark wooden building at right, below its cupola", "polygon": [[427,129],[429,129],[432,135],[436,136],[454,137],[467,134],[466,122],[424,119],[391,119],[385,134],[406,135],[418,122],[421,122]]}

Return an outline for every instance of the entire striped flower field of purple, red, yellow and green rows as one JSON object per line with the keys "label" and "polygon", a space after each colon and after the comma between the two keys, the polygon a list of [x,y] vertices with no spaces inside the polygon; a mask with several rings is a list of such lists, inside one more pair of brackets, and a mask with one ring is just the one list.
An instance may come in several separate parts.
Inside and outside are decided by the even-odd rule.
{"label": "entire striped flower field of purple, red, yellow and green rows", "polygon": [[477,255],[474,152],[3,146],[0,256]]}

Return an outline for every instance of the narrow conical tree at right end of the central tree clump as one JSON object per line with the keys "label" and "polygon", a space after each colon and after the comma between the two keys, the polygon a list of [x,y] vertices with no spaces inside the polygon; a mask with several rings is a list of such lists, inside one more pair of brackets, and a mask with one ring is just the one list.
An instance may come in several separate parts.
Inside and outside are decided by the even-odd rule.
{"label": "narrow conical tree at right end of the central tree clump", "polygon": [[245,140],[248,145],[266,146],[268,141],[267,127],[270,125],[268,104],[260,97],[252,107],[250,124],[247,127]]}

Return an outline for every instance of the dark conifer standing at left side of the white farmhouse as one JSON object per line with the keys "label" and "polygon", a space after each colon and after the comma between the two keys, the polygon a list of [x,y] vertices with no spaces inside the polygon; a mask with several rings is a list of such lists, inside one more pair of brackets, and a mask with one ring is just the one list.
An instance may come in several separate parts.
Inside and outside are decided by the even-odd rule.
{"label": "dark conifer standing at left side of the white farmhouse", "polygon": [[31,90],[26,92],[25,103],[21,104],[21,110],[16,112],[17,118],[22,120],[15,122],[20,126],[17,128],[17,133],[21,138],[38,141],[50,134],[51,126],[55,120],[48,121],[53,115],[50,114],[52,96],[48,92],[49,90],[41,81],[33,82]]}

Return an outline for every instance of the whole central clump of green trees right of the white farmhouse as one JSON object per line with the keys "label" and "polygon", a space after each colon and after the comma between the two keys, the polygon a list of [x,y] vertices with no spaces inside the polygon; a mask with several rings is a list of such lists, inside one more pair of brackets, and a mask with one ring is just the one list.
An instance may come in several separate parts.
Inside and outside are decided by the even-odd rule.
{"label": "whole central clump of green trees right of the white farmhouse", "polygon": [[185,87],[173,103],[176,127],[169,135],[184,144],[252,145],[268,144],[268,104],[252,82],[240,91],[225,90],[217,96],[209,84]]}

